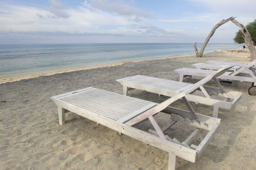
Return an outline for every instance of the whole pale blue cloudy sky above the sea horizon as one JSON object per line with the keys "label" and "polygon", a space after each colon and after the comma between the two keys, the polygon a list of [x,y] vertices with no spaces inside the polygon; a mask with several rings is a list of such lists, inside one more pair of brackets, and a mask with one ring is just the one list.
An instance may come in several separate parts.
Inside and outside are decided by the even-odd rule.
{"label": "whole pale blue cloudy sky above the sea horizon", "polygon": [[[222,19],[246,25],[255,0],[0,0],[0,44],[202,43]],[[221,25],[210,43],[234,43]]]}

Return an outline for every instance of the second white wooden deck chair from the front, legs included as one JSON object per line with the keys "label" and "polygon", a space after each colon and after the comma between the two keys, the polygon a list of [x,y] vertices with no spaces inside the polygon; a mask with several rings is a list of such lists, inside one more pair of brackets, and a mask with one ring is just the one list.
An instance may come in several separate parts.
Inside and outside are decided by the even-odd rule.
{"label": "second white wooden deck chair from the front, legs included", "polygon": [[[222,71],[222,73],[225,73]],[[116,80],[123,85],[123,93],[127,96],[127,92],[133,89],[146,90],[147,92],[152,92],[156,94],[161,94],[164,96],[175,96],[182,92],[182,90],[192,86],[191,83],[184,83],[174,80],[166,80],[162,78],[155,78],[150,76],[131,76],[127,78],[121,78]],[[207,81],[205,81],[207,83]],[[219,89],[212,87],[200,86],[198,89],[198,94],[186,95],[186,99],[191,102],[205,104],[207,106],[213,107],[212,116],[218,117],[219,108],[231,109],[239,99],[241,99],[242,93],[230,90],[224,90],[222,87]],[[218,96],[218,97],[216,97]]]}

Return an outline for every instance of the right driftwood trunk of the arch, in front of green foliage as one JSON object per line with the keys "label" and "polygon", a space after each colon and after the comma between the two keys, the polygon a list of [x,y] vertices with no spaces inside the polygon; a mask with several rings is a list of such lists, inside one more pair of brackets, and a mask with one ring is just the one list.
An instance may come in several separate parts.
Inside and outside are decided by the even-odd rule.
{"label": "right driftwood trunk of the arch, in front of green foliage", "polygon": [[248,49],[249,49],[250,54],[251,54],[251,61],[252,61],[252,60],[255,60],[255,59],[256,59],[256,50],[255,50],[255,47],[254,47],[254,45],[253,45],[252,37],[251,37],[250,32],[248,31],[248,29],[246,29],[246,27],[244,27],[243,24],[239,23],[237,20],[232,19],[231,21],[232,21],[234,24],[236,24],[237,27],[241,28],[241,31],[242,31],[243,34],[244,34],[244,42],[245,42],[246,45],[248,46]]}

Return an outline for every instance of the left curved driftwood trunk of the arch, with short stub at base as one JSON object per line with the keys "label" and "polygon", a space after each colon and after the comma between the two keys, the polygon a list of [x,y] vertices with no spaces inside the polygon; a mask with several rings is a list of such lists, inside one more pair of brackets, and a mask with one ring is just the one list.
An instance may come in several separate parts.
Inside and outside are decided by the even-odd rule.
{"label": "left curved driftwood trunk of the arch, with short stub at base", "polygon": [[219,22],[218,24],[216,24],[213,28],[212,28],[212,31],[210,32],[210,34],[207,36],[207,38],[205,39],[204,41],[204,44],[202,45],[201,49],[200,49],[200,52],[198,52],[197,50],[197,47],[196,47],[196,43],[194,45],[194,48],[195,48],[195,52],[196,52],[196,57],[203,57],[203,53],[204,53],[204,50],[205,50],[205,46],[207,45],[207,43],[209,42],[210,38],[213,36],[214,32],[216,31],[216,29],[218,29],[218,27],[220,27],[220,25],[223,25],[225,24],[226,22],[230,21],[230,20],[233,20],[234,18],[236,17],[230,17],[230,18],[227,18],[225,20],[221,20],[221,22]]}

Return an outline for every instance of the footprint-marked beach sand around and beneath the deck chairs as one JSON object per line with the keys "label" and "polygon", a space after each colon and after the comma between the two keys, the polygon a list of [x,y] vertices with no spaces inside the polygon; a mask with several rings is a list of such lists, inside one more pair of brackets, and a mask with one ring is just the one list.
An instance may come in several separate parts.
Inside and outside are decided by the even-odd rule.
{"label": "footprint-marked beach sand around and beneath the deck chairs", "polygon": [[[143,74],[179,80],[174,69],[193,67],[191,64],[207,60],[246,63],[248,56],[246,52],[220,50],[203,58],[182,55],[2,81],[0,169],[166,169],[168,153],[129,136],[119,136],[116,131],[74,113],[67,113],[66,124],[59,125],[57,107],[50,97],[85,87],[122,94],[118,78]],[[177,157],[177,169],[255,169],[256,98],[248,95],[250,84],[223,83],[226,89],[243,92],[242,99],[232,110],[220,110],[220,128],[196,163]],[[141,90],[132,90],[129,96],[156,102],[166,99]],[[212,114],[212,108],[192,105],[198,113]],[[177,102],[174,106],[182,104]],[[161,123],[164,118],[157,115],[157,120]],[[142,126],[147,128],[149,124],[144,122]],[[189,131],[192,129],[175,125],[166,132],[179,138]]]}

